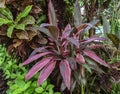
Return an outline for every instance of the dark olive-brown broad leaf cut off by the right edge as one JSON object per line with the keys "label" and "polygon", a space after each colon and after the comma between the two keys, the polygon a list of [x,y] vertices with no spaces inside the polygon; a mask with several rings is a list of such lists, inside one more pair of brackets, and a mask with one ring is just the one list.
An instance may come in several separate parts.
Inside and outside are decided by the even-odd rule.
{"label": "dark olive-brown broad leaf cut off by the right edge", "polygon": [[115,47],[118,49],[120,47],[120,39],[114,34],[107,34],[107,36],[113,42]]}

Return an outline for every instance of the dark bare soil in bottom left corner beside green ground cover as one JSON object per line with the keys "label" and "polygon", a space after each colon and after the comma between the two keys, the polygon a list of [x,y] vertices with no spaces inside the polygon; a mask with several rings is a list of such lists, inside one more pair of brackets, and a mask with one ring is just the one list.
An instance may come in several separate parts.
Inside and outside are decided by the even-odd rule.
{"label": "dark bare soil in bottom left corner beside green ground cover", "polygon": [[7,80],[5,80],[3,71],[0,69],[0,94],[6,94],[7,89]]}

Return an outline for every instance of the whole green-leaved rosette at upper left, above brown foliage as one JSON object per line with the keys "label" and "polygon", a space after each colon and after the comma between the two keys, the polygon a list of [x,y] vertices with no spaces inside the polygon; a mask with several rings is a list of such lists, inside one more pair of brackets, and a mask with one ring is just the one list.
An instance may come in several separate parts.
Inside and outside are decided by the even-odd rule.
{"label": "whole green-leaved rosette at upper left, above brown foliage", "polygon": [[29,5],[18,14],[15,21],[13,20],[13,15],[8,8],[0,8],[0,26],[5,24],[8,25],[7,36],[11,38],[14,29],[25,31],[26,25],[35,24],[35,19],[33,16],[29,15],[32,9],[32,5]]}

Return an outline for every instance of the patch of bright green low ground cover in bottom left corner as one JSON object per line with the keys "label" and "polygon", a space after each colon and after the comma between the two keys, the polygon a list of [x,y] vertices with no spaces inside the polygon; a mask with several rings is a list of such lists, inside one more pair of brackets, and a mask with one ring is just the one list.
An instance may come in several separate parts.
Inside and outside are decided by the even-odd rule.
{"label": "patch of bright green low ground cover in bottom left corner", "polygon": [[6,94],[60,94],[60,92],[53,91],[54,85],[49,80],[38,86],[36,83],[38,75],[25,81],[24,76],[28,69],[19,67],[16,59],[11,58],[2,45],[0,45],[0,68],[8,79],[9,89]]}

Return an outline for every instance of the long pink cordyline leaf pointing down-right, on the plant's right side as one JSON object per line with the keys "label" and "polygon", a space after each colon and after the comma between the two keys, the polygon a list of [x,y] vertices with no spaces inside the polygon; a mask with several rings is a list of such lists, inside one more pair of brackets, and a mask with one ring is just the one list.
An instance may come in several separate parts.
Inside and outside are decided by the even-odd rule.
{"label": "long pink cordyline leaf pointing down-right, on the plant's right side", "polygon": [[99,58],[93,51],[90,50],[84,50],[84,54],[91,59],[95,60],[96,62],[100,63],[101,65],[105,67],[110,67],[105,61],[103,61],[101,58]]}

